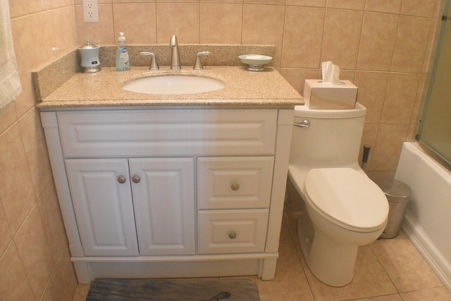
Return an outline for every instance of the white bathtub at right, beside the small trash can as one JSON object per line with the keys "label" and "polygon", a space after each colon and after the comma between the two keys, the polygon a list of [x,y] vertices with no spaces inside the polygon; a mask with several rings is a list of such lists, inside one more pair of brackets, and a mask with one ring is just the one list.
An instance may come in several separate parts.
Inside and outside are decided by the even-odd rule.
{"label": "white bathtub at right, beside the small trash can", "polygon": [[451,291],[451,173],[404,142],[395,179],[412,188],[402,231]]}

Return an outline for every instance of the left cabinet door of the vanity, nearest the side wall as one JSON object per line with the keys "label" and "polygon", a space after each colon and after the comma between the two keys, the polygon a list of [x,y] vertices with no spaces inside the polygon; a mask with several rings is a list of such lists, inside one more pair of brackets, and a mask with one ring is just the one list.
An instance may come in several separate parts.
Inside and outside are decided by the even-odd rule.
{"label": "left cabinet door of the vanity, nearest the side wall", "polygon": [[85,256],[137,256],[127,159],[66,159],[66,170]]}

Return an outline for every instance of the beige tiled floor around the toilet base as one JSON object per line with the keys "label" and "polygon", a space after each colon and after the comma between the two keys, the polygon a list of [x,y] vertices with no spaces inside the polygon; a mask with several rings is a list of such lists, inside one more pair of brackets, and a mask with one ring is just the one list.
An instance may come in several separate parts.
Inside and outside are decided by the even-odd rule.
{"label": "beige tiled floor around the toilet base", "polygon": [[[309,271],[299,249],[296,225],[300,214],[302,211],[284,213],[276,278],[246,277],[257,283],[261,301],[451,300],[451,293],[403,233],[360,247],[349,285],[333,288],[321,283]],[[78,285],[73,301],[86,300],[88,290],[89,285]]]}

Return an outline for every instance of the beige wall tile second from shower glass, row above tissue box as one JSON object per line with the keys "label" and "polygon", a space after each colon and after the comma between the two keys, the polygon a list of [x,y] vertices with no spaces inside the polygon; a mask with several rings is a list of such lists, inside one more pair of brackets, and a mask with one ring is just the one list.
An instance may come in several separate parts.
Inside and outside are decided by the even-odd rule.
{"label": "beige wall tile second from shower glass, row above tissue box", "polygon": [[357,68],[390,70],[395,47],[398,16],[365,12]]}

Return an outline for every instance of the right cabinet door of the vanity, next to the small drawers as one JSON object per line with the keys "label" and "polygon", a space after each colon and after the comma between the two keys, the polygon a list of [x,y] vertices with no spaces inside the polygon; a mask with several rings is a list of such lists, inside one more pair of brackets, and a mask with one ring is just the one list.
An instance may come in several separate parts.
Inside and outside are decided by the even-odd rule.
{"label": "right cabinet door of the vanity, next to the small drawers", "polygon": [[194,254],[194,159],[129,161],[140,255]]}

